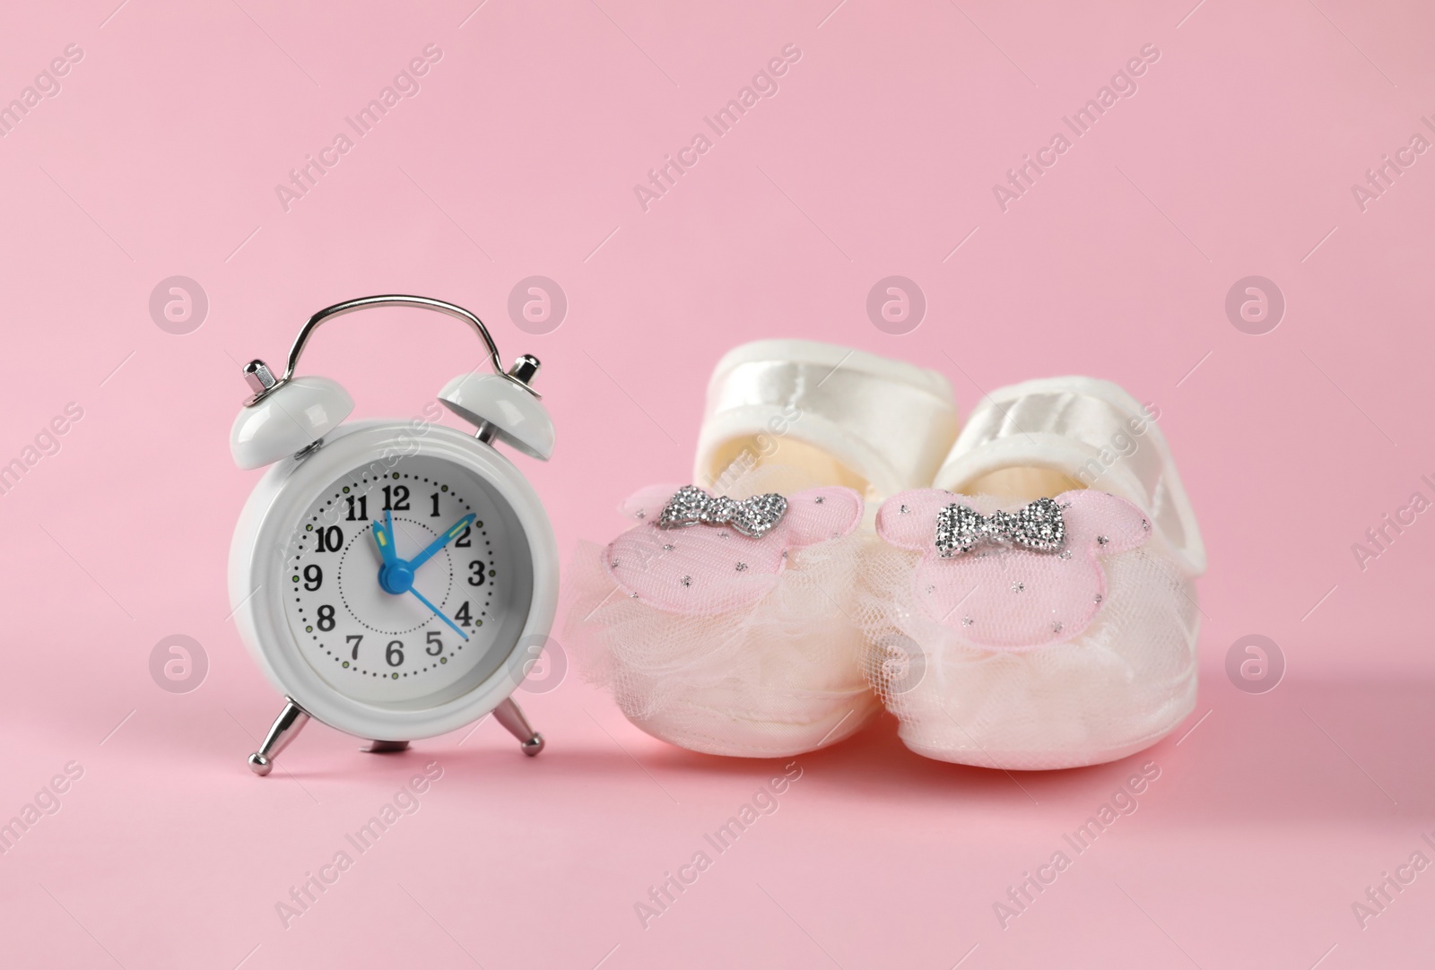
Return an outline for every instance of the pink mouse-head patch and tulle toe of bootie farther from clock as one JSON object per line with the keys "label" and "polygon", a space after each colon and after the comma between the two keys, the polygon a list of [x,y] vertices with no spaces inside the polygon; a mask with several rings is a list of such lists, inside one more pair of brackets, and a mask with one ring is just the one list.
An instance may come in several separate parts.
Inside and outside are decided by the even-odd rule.
{"label": "pink mouse-head patch and tulle toe of bootie farther from clock", "polygon": [[[884,548],[857,601],[868,643],[913,644],[923,672],[890,677],[870,651],[872,689],[908,748],[984,768],[1072,768],[1141,750],[1191,712],[1195,588],[1149,512],[1066,492],[1055,499],[1066,505],[1059,554],[992,544],[943,558],[933,527],[953,501],[926,489],[883,507]],[[1015,505],[956,501],[987,517]]]}

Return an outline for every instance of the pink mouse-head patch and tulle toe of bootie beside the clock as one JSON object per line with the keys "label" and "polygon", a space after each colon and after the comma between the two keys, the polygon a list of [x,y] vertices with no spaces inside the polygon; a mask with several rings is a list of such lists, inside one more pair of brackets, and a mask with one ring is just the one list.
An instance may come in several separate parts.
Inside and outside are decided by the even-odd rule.
{"label": "pink mouse-head patch and tulle toe of bootie beside the clock", "polygon": [[761,538],[657,525],[677,486],[624,505],[640,525],[581,544],[565,637],[644,732],[692,750],[781,758],[837,743],[880,709],[854,595],[870,538],[847,488],[786,498]]}

